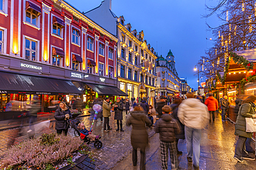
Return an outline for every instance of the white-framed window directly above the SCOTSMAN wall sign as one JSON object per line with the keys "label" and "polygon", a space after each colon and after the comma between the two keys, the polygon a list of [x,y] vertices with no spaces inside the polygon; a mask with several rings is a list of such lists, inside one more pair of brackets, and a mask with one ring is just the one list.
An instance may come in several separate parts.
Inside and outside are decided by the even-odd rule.
{"label": "white-framed window directly above the SCOTSMAN wall sign", "polygon": [[37,56],[37,42],[30,39],[26,39],[25,41],[26,60],[35,61],[35,56]]}

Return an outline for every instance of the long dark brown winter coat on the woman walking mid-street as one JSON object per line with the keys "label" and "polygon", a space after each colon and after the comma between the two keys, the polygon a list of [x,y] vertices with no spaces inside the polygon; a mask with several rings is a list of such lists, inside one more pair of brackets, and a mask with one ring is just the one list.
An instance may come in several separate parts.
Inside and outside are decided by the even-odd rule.
{"label": "long dark brown winter coat on the woman walking mid-street", "polygon": [[131,111],[131,116],[127,118],[127,126],[132,125],[131,131],[131,145],[134,149],[138,147],[145,149],[148,145],[148,135],[146,126],[151,125],[150,120],[147,118],[143,111]]}

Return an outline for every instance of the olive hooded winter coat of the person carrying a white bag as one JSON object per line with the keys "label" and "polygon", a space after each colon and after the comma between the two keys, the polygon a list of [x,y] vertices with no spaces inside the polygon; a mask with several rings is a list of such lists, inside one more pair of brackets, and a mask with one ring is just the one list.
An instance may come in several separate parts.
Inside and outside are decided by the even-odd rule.
{"label": "olive hooded winter coat of the person carrying a white bag", "polygon": [[255,115],[255,109],[252,103],[244,103],[241,105],[235,123],[235,135],[252,138],[253,133],[246,132],[246,118],[253,118],[253,115]]}

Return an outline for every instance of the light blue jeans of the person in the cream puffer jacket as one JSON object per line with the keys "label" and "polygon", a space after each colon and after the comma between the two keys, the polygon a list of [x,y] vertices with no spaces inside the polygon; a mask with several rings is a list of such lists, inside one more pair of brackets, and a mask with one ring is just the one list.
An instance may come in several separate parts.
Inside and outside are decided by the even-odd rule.
{"label": "light blue jeans of the person in the cream puffer jacket", "polygon": [[185,126],[185,138],[187,142],[188,157],[192,158],[193,164],[199,167],[200,141],[202,130]]}

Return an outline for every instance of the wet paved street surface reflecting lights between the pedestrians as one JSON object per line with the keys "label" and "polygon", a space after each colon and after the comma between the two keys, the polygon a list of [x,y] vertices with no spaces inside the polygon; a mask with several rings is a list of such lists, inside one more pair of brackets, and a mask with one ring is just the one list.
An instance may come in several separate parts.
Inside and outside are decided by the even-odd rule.
{"label": "wet paved street surface reflecting lights between the pedestrians", "polygon": [[[100,134],[100,139],[103,143],[102,149],[95,149],[93,144],[90,145],[93,151],[93,157],[95,162],[93,163],[93,169],[138,169],[132,166],[131,162],[131,143],[130,133],[131,127],[125,126],[125,113],[123,116],[123,129],[124,132],[116,131],[116,120],[113,120],[113,112],[111,113],[110,125],[113,128],[109,132],[103,131],[103,122],[100,119],[93,126],[93,134]],[[90,117],[80,118],[83,121],[87,129],[91,128]],[[51,125],[51,129],[43,129],[37,131],[36,136],[40,136],[43,133],[51,133],[55,131],[54,123]],[[28,127],[25,127],[23,131],[26,134]],[[256,169],[256,161],[247,161],[244,163],[237,163],[233,159],[235,151],[236,136],[234,135],[235,126],[230,122],[222,122],[221,116],[217,114],[217,118],[214,123],[210,123],[207,128],[203,129],[201,139],[201,155],[199,166],[200,169]],[[6,131],[0,131],[0,156],[3,151],[7,149],[8,141],[14,138],[17,129],[10,129]],[[149,133],[149,147],[146,151],[146,168],[147,169],[161,169],[161,153],[159,149],[158,134],[154,134],[153,128],[148,129]],[[68,134],[73,136],[73,129],[68,130]],[[15,138],[15,143],[19,143],[28,138],[27,135]],[[179,142],[179,150],[183,151],[183,155],[179,156],[179,169],[193,169],[192,163],[187,161],[187,151],[185,140]],[[138,156],[139,158],[140,156]],[[170,158],[168,160],[170,169]]]}

